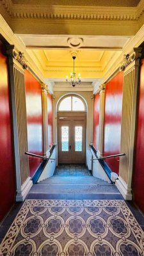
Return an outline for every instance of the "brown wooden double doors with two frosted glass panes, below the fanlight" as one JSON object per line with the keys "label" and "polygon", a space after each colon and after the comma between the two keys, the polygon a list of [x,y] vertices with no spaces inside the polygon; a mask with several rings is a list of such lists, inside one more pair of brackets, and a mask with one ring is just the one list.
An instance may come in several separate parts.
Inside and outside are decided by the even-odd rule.
{"label": "brown wooden double doors with two frosted glass panes, below the fanlight", "polygon": [[[86,113],[81,114],[83,115],[58,113],[58,163],[86,162]],[[68,140],[65,141],[64,138],[62,141],[65,128],[68,130]]]}

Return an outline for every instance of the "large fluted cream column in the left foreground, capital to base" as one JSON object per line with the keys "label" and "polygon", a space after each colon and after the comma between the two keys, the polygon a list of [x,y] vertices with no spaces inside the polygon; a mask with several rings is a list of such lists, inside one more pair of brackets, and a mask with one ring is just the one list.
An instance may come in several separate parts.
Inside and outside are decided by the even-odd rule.
{"label": "large fluted cream column in the left foreground, capital to base", "polygon": [[10,95],[13,116],[13,141],[15,154],[15,172],[17,183],[16,200],[22,201],[28,194],[33,182],[29,177],[29,162],[25,152],[28,151],[28,132],[26,120],[26,93],[24,69],[27,68],[24,56],[14,49],[7,48]]}

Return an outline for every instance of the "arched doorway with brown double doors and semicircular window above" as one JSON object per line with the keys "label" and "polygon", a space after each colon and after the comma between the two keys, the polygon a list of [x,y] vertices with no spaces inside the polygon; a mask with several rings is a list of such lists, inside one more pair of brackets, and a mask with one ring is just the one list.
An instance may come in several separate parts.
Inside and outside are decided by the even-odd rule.
{"label": "arched doorway with brown double doors and semicircular window above", "polygon": [[58,102],[58,163],[86,163],[86,103],[76,94]]}

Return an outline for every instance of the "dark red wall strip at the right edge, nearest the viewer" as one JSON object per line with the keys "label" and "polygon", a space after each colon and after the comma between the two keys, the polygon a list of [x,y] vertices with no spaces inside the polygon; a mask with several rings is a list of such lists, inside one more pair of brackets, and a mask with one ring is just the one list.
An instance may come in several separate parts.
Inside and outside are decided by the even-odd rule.
{"label": "dark red wall strip at the right edge, nearest the viewer", "polygon": [[140,74],[140,95],[138,102],[138,124],[136,134],[136,156],[134,164],[133,193],[134,200],[144,212],[144,60],[142,60]]}

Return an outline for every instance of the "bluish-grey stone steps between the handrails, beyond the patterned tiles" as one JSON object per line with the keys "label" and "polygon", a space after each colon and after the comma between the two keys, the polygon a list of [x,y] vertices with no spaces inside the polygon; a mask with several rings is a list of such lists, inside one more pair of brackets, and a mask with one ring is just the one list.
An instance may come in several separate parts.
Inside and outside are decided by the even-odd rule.
{"label": "bluish-grey stone steps between the handrails, beyond the patterned tiles", "polygon": [[90,175],[54,175],[33,185],[30,193],[73,196],[120,195],[115,184]]}

